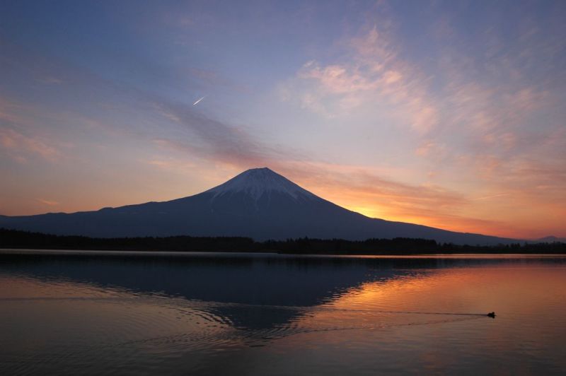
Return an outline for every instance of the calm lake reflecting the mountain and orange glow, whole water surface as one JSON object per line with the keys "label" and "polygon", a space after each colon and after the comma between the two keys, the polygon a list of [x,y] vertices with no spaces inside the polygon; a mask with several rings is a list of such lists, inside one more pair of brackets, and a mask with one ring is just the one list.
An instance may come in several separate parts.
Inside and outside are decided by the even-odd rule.
{"label": "calm lake reflecting the mountain and orange glow, whole water surface", "polygon": [[2,250],[0,375],[563,375],[565,312],[560,255]]}

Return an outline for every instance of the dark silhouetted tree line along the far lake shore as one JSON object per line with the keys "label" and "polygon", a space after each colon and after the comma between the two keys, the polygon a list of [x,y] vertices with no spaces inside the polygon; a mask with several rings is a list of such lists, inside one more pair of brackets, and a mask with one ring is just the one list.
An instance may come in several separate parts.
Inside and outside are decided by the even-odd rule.
{"label": "dark silhouetted tree line along the far lake shore", "polygon": [[435,240],[313,239],[258,242],[250,237],[86,237],[50,235],[0,228],[0,248],[84,249],[123,251],[279,252],[291,254],[427,254],[427,253],[566,253],[564,242],[524,242],[509,245],[454,245]]}

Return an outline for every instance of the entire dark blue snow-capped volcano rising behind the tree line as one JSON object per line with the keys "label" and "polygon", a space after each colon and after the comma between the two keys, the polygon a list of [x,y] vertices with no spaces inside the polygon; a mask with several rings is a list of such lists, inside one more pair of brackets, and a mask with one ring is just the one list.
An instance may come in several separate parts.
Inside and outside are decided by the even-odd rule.
{"label": "entire dark blue snow-capped volcano rising behind the tree line", "polygon": [[0,216],[0,228],[91,237],[420,237],[468,245],[517,241],[369,218],[322,199],[269,168],[247,170],[205,192],[172,201],[78,213]]}

